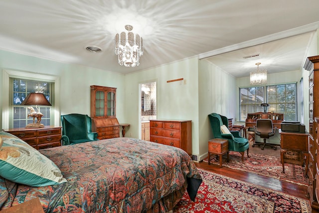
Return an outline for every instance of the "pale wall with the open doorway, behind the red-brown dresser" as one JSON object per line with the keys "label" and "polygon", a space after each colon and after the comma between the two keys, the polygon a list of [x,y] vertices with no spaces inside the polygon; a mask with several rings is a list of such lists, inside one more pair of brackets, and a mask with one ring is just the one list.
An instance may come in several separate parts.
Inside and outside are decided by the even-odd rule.
{"label": "pale wall with the open doorway, behind the red-brown dresser", "polygon": [[[183,78],[180,81],[169,80]],[[157,82],[157,119],[192,120],[192,153],[198,155],[198,59],[165,64],[126,75],[126,120],[131,124],[127,136],[139,138],[139,84]],[[181,83],[181,84],[180,84]]]}

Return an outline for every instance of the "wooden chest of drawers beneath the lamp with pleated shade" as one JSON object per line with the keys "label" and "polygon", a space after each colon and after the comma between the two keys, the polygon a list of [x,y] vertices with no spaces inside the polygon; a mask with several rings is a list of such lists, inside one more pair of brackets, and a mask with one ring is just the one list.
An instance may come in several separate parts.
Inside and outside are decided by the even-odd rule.
{"label": "wooden chest of drawers beneath the lamp with pleated shade", "polygon": [[61,146],[61,127],[13,128],[3,131],[21,138],[38,150]]}

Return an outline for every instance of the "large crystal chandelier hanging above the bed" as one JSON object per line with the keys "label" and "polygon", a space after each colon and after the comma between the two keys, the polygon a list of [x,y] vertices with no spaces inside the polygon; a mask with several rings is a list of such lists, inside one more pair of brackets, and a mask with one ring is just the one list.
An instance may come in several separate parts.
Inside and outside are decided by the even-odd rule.
{"label": "large crystal chandelier hanging above the bed", "polygon": [[140,65],[140,56],[143,55],[143,38],[131,32],[132,25],[125,25],[128,32],[115,35],[115,54],[118,55],[119,64],[126,67]]}

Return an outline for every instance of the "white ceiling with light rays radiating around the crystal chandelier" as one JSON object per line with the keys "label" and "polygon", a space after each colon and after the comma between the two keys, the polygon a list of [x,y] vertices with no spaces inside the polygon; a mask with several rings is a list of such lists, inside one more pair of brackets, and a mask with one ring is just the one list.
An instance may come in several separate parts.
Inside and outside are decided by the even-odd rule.
{"label": "white ceiling with light rays radiating around the crystal chandelier", "polygon": [[[244,77],[256,62],[269,73],[303,66],[319,0],[2,0],[0,20],[2,50],[123,74],[198,55]],[[144,39],[137,67],[114,53],[125,24]]]}

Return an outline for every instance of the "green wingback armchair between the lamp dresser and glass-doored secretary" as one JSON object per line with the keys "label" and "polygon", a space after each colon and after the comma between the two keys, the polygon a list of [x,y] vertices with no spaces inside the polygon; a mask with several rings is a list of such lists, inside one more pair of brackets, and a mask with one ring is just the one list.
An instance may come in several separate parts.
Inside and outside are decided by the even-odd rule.
{"label": "green wingback armchair between the lamp dresser and glass-doored secretary", "polygon": [[88,115],[61,115],[62,145],[79,144],[99,140],[92,132],[92,121]]}

